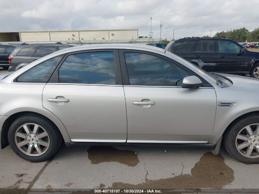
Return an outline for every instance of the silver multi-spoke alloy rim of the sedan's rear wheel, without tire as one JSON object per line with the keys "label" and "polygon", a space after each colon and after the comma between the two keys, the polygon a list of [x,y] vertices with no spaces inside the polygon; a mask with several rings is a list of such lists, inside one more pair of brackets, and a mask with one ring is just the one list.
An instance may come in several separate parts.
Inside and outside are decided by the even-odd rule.
{"label": "silver multi-spoke alloy rim of the sedan's rear wheel, without tire", "polygon": [[16,130],[15,143],[23,153],[29,156],[39,156],[48,150],[50,139],[43,127],[27,123]]}

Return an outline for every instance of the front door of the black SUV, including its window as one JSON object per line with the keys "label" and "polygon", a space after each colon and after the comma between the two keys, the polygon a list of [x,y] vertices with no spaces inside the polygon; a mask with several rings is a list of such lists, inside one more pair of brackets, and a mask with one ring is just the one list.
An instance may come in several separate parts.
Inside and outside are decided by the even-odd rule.
{"label": "front door of the black SUV, including its window", "polygon": [[218,59],[216,71],[222,73],[249,73],[248,51],[232,40],[220,39],[217,41]]}

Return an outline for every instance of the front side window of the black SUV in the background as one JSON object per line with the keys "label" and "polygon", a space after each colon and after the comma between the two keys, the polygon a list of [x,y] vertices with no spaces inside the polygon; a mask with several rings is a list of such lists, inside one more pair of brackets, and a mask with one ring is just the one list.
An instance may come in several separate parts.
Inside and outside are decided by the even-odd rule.
{"label": "front side window of the black SUV in the background", "polygon": [[218,40],[219,53],[240,53],[241,47],[231,40]]}

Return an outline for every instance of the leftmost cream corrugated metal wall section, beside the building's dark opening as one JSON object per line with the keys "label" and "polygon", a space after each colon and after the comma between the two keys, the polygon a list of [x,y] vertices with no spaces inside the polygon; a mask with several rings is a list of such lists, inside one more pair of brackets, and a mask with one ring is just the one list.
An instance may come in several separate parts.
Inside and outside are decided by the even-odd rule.
{"label": "leftmost cream corrugated metal wall section, beside the building's dark opening", "polygon": [[20,32],[21,41],[50,41],[48,32]]}

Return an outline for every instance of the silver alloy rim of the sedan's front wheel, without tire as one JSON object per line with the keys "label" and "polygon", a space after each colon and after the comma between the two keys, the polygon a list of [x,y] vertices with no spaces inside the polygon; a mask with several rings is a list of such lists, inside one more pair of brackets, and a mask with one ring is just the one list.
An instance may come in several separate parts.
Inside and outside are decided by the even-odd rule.
{"label": "silver alloy rim of the sedan's front wheel, without tire", "polygon": [[235,140],[240,154],[247,158],[259,157],[259,124],[250,124],[241,129]]}

